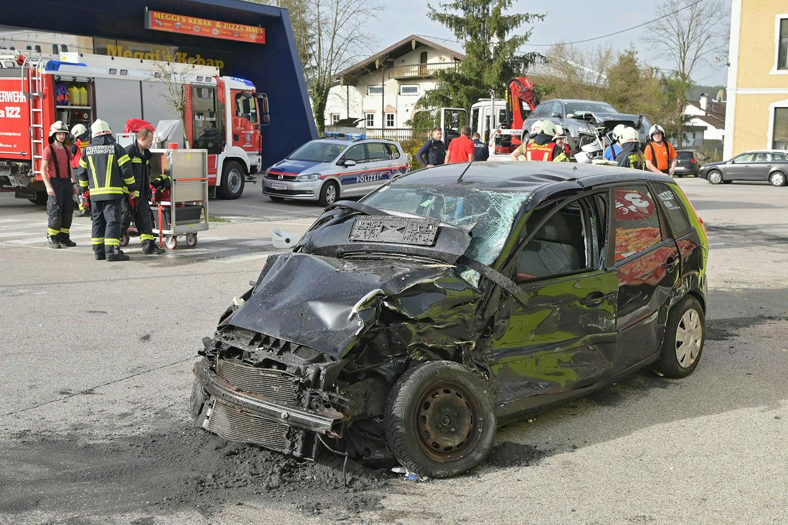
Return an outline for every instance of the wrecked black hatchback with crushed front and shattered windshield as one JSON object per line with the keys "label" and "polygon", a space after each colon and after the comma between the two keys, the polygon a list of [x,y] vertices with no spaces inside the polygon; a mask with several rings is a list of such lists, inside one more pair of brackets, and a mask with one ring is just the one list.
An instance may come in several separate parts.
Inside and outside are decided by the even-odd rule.
{"label": "wrecked black hatchback with crushed front and shattered windshield", "polygon": [[399,177],[266,260],[195,364],[191,412],[314,459],[478,466],[496,426],[704,344],[701,219],[671,177],[474,162]]}

